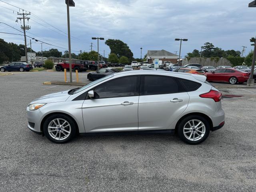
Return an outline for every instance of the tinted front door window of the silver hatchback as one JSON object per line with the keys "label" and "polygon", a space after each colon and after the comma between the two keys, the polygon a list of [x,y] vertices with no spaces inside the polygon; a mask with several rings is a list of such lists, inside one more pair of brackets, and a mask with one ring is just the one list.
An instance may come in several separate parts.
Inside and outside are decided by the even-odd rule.
{"label": "tinted front door window of the silver hatchback", "polygon": [[130,97],[136,92],[137,76],[128,76],[106,82],[94,89],[96,98]]}

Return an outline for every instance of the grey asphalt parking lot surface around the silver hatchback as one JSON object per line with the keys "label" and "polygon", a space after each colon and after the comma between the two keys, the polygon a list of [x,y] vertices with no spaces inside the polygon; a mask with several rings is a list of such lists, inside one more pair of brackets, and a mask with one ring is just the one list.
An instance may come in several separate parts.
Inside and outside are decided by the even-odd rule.
{"label": "grey asphalt parking lot surface around the silver hatchback", "polygon": [[[79,75],[85,82],[86,73]],[[74,88],[42,85],[62,76],[0,77],[1,192],[256,191],[256,89],[220,89],[242,97],[222,99],[225,126],[197,146],[168,134],[99,134],[54,144],[28,130],[26,106]]]}

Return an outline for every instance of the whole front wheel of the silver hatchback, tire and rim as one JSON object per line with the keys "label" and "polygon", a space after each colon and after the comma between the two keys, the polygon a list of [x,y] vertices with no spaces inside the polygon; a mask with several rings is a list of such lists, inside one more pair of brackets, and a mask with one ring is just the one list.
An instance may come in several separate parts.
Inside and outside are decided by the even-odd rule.
{"label": "whole front wheel of the silver hatchback, tire and rim", "polygon": [[76,135],[74,120],[64,114],[54,114],[44,121],[44,135],[54,143],[66,143]]}

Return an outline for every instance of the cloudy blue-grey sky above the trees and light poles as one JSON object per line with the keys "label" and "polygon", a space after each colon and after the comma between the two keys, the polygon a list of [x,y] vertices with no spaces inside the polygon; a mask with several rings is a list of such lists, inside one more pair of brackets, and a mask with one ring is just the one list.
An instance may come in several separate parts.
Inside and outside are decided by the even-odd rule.
{"label": "cloudy blue-grey sky above the trees and light poles", "polygon": [[[68,49],[67,10],[64,0],[4,0],[9,4],[30,11],[31,29],[27,35],[38,40]],[[224,50],[252,49],[250,38],[256,35],[256,8],[248,8],[252,0],[74,0],[70,7],[71,48],[97,50],[93,36],[105,39],[120,39],[127,43],[135,58],[147,50],[179,51],[179,42],[174,38],[188,38],[183,42],[181,55],[200,49],[205,42],[212,42]],[[0,1],[0,22],[20,29],[15,22],[19,8]],[[13,12],[13,10],[15,12]],[[40,20],[41,19],[41,20]],[[43,22],[44,20],[45,22]],[[53,28],[54,26],[55,28]],[[0,32],[21,32],[0,24]],[[7,42],[24,44],[19,35],[0,34]],[[29,41],[28,38],[27,41]],[[43,50],[56,48],[42,44]],[[41,44],[32,40],[32,49],[41,50]],[[110,53],[104,41],[100,41],[100,54]]]}

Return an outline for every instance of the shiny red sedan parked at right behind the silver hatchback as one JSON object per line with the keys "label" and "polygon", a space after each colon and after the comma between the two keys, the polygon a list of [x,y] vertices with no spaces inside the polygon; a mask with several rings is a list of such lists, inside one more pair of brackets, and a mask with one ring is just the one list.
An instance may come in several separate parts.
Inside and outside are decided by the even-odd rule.
{"label": "shiny red sedan parked at right behind the silver hatchback", "polygon": [[231,84],[244,83],[248,80],[250,74],[242,70],[232,68],[217,69],[213,72],[205,73],[207,81],[229,82]]}

